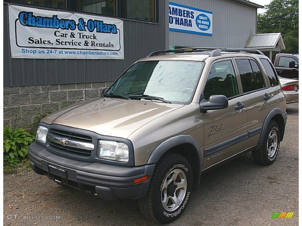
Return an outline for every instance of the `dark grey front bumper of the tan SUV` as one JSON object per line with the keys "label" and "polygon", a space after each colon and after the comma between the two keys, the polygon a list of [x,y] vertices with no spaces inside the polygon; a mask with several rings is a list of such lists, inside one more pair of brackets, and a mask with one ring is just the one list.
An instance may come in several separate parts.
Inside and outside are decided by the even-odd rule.
{"label": "dark grey front bumper of the tan SUV", "polygon": [[[29,146],[28,157],[31,168],[36,173],[47,175],[67,187],[93,193],[108,200],[144,197],[155,168],[155,164],[127,167],[81,162],[54,155],[35,142]],[[59,170],[53,170],[54,168]],[[143,176],[148,176],[148,180],[139,184],[133,183],[134,179]]]}

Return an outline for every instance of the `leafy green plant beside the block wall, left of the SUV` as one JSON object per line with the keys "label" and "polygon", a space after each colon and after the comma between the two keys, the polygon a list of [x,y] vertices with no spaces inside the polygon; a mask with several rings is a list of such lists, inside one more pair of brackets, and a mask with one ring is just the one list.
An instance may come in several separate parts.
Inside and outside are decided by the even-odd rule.
{"label": "leafy green plant beside the block wall, left of the SUV", "polygon": [[28,146],[34,142],[35,137],[24,129],[13,130],[3,127],[3,161],[15,164],[27,155]]}

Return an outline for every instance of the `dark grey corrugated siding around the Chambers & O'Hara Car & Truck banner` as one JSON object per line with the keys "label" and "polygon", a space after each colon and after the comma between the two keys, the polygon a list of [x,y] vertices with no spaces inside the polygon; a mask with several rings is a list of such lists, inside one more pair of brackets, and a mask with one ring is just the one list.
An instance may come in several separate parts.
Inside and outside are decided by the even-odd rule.
{"label": "dark grey corrugated siding around the Chambers & O'Hara Car & Truck banner", "polygon": [[3,6],[4,87],[114,81],[133,62],[166,49],[167,7],[165,1],[159,1],[159,24],[124,20],[124,60],[11,59],[8,5]]}

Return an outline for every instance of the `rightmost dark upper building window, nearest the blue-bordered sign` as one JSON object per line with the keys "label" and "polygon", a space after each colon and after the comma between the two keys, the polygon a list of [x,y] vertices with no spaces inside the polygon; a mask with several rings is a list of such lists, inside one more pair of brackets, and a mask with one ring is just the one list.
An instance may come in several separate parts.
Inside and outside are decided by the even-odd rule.
{"label": "rightmost dark upper building window, nearest the blue-bordered sign", "polygon": [[126,18],[156,22],[156,0],[127,0]]}

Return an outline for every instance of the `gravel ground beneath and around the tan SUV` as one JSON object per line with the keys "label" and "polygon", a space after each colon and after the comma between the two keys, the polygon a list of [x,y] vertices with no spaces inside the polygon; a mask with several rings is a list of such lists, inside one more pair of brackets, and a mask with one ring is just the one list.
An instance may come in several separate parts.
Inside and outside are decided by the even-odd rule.
{"label": "gravel ground beneath and around the tan SUV", "polygon": [[[255,165],[250,153],[203,175],[184,214],[171,225],[298,225],[298,104],[288,105],[278,158]],[[156,225],[137,201],[111,202],[64,188],[32,171],[4,175],[4,225]],[[291,219],[271,219],[294,212]]]}

